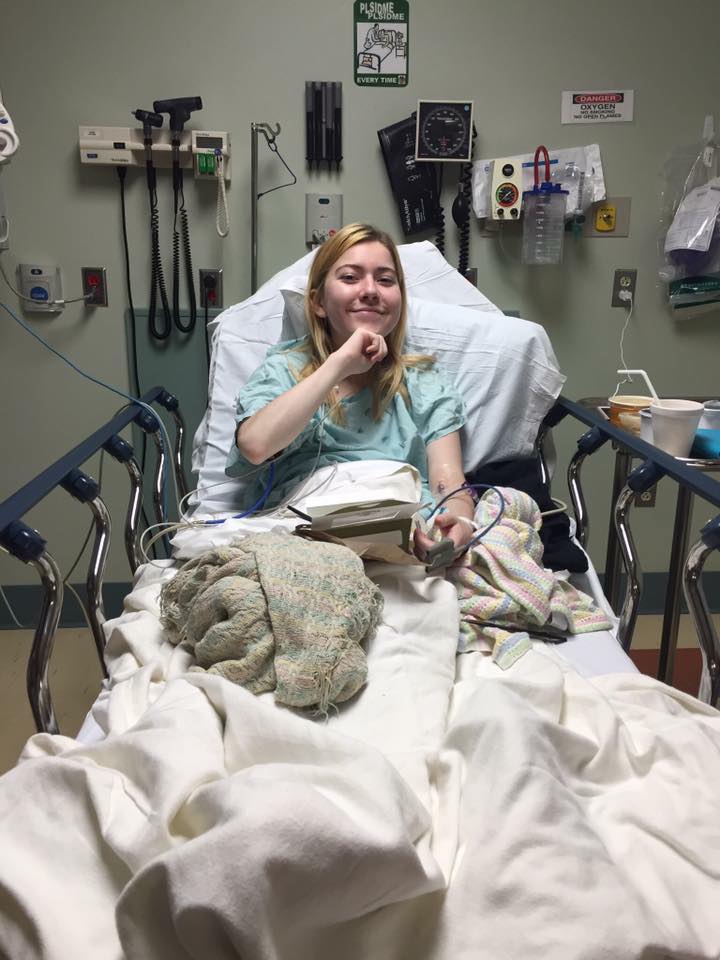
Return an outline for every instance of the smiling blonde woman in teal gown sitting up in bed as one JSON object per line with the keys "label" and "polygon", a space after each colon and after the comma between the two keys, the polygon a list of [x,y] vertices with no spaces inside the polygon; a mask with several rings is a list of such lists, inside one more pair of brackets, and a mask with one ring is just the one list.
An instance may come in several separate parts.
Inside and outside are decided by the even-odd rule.
{"label": "smiling blonde woman in teal gown sitting up in bed", "polygon": [[[307,336],[272,348],[238,396],[227,473],[242,476],[282,453],[270,506],[313,469],[349,460],[412,464],[424,499],[461,487],[462,401],[432,357],[402,353],[405,280],[392,239],[351,224],[326,241],[310,270],[305,315]],[[462,547],[473,512],[473,495],[461,491],[436,526]],[[421,559],[431,545],[416,534]]]}

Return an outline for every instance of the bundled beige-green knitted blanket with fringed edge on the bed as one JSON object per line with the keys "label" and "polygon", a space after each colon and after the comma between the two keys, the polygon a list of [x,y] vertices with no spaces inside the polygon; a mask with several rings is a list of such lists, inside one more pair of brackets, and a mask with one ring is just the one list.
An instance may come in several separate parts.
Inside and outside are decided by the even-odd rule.
{"label": "bundled beige-green knitted blanket with fringed edge on the bed", "polygon": [[274,532],[189,560],[160,596],[163,626],[192,647],[194,669],[321,712],[365,683],[362,644],[382,604],[347,547]]}

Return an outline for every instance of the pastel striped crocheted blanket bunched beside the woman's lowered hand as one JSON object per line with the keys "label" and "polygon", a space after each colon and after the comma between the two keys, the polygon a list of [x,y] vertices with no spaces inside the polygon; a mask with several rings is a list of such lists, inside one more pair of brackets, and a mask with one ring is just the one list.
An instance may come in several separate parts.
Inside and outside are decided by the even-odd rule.
{"label": "pastel striped crocheted blanket bunched beside the woman's lowered hand", "polygon": [[[527,635],[519,637],[528,628],[552,623],[576,634],[611,623],[591,597],[543,566],[542,517],[535,501],[509,487],[500,492],[501,519],[447,577],[460,601],[460,649],[486,648],[489,642],[493,659],[505,668],[529,648]],[[488,491],[475,511],[476,523],[485,528],[499,510],[497,495]]]}

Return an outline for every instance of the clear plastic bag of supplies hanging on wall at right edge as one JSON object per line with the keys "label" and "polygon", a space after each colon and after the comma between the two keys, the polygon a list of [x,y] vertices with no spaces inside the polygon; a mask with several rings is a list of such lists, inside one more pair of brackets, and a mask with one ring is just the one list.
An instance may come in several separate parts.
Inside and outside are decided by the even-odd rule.
{"label": "clear plastic bag of supplies hanging on wall at right edge", "polygon": [[676,316],[720,309],[720,178],[712,117],[701,142],[665,162],[660,194],[658,276]]}

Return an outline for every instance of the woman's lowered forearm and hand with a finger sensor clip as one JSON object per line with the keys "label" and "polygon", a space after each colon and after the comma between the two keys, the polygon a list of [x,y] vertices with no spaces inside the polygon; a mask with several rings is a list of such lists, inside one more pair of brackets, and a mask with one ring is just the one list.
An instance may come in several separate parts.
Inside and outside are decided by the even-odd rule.
{"label": "woman's lowered forearm and hand with a finger sensor clip", "polygon": [[[457,430],[429,443],[427,458],[430,489],[438,501],[465,483],[460,434]],[[474,533],[472,525],[466,521],[473,519],[475,501],[469,491],[460,491],[447,500],[444,506],[446,512],[436,515],[435,526],[442,531],[444,537],[452,540],[456,547],[464,547]],[[424,555],[433,545],[433,541],[417,531],[415,545]]]}

